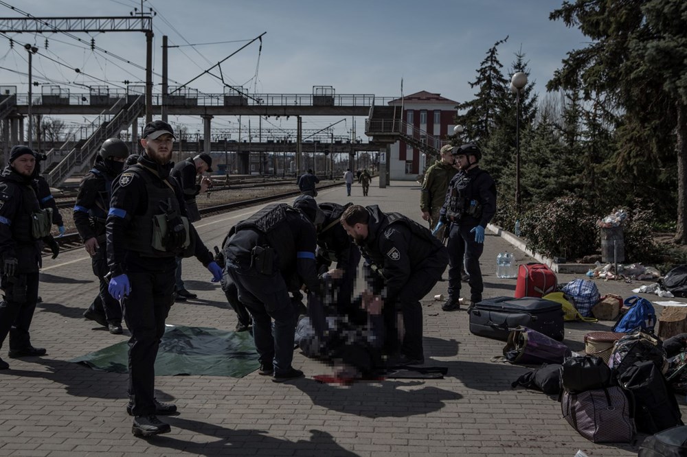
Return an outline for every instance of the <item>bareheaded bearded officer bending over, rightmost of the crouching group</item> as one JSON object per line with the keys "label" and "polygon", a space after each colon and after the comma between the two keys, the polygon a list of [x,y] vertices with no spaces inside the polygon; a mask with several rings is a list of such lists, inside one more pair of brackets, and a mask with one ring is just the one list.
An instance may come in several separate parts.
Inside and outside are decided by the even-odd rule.
{"label": "bareheaded bearded officer bending over, rightmost of the crouching group", "polygon": [[[377,205],[348,207],[341,215],[341,224],[359,246],[371,270],[371,292],[381,295],[383,300],[389,363],[425,363],[420,299],[431,291],[446,269],[447,249],[427,228],[400,213],[383,213]],[[397,311],[403,315],[405,329],[400,351]]]}

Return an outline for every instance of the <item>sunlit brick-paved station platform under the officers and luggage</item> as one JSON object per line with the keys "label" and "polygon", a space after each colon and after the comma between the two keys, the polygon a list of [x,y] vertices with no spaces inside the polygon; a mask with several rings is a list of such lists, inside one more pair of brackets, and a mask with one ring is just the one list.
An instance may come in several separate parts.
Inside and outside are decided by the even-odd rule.
{"label": "sunlit brick-paved station platform under the officers and luggage", "polygon": [[[375,180],[376,183],[376,180]],[[416,183],[370,187],[363,197],[354,185],[322,191],[318,201],[379,204],[420,221]],[[196,224],[205,243],[219,245],[232,224],[256,209],[204,218]],[[487,233],[482,270],[485,298],[510,295],[515,279],[495,276],[497,253],[513,250]],[[518,263],[531,261],[515,252]],[[444,274],[445,277],[445,274]],[[581,274],[559,274],[565,283]],[[177,303],[168,323],[234,329],[236,317],[210,273],[194,259],[184,261],[184,279],[199,299]],[[640,283],[598,281],[602,294],[627,297]],[[0,456],[592,456],[636,455],[632,445],[595,445],[561,416],[560,404],[541,392],[513,390],[510,382],[528,368],[490,362],[504,343],[473,336],[467,314],[446,313],[431,298],[446,294],[440,282],[423,301],[427,364],[447,366],[438,380],[388,380],[352,386],[318,384],[312,377],[330,368],[296,353],[294,366],[306,377],[283,384],[251,373],[231,377],[157,377],[157,397],[179,406],[166,418],[170,434],[148,440],[131,434],[126,414],[126,375],[101,373],[67,360],[128,338],[113,336],[82,318],[97,290],[82,249],[45,259],[43,302],[32,325],[32,342],[47,348],[43,358],[3,359],[0,371]],[[657,296],[646,296],[655,299]],[[659,308],[659,307],[657,307]],[[566,325],[565,342],[583,351],[587,331],[611,323]],[[679,400],[687,418],[684,399]],[[638,437],[638,442],[644,438]]]}

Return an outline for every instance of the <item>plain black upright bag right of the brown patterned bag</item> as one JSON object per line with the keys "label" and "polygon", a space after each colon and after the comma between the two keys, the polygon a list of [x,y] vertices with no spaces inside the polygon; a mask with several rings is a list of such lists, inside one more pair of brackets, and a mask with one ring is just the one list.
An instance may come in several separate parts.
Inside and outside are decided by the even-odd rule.
{"label": "plain black upright bag right of the brown patterned bag", "polygon": [[656,365],[646,360],[635,362],[618,375],[618,383],[635,399],[635,425],[638,432],[657,433],[684,425],[675,394]]}

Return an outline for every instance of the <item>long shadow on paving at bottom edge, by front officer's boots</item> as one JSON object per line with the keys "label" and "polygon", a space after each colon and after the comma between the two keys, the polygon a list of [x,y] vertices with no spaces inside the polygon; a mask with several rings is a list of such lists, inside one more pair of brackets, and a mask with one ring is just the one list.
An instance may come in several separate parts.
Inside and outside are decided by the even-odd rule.
{"label": "long shadow on paving at bottom edge, by front officer's boots", "polygon": [[[176,449],[184,453],[200,456],[297,456],[322,455],[355,457],[357,454],[343,449],[333,436],[322,430],[310,430],[310,440],[290,441],[268,436],[265,430],[233,430],[211,423],[182,419],[181,417],[164,418],[172,427],[183,428],[194,434],[208,436],[207,442],[190,443],[170,435],[159,435],[148,438],[151,446]],[[174,428],[172,428],[172,431]]]}

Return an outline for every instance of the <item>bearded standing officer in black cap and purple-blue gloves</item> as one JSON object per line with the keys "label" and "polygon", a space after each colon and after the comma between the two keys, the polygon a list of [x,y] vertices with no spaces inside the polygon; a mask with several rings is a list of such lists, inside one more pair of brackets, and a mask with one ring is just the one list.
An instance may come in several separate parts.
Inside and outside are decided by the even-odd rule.
{"label": "bearded standing officer in black cap and purple-blue gloves", "polygon": [[175,258],[195,255],[221,279],[192,224],[185,220],[181,189],[169,177],[174,130],[164,121],[146,124],[138,163],[113,182],[106,222],[109,292],[122,301],[129,340],[130,400],[127,412],[135,419],[132,432],[151,436],[170,432],[157,414],[172,414],[177,406],[155,399],[155,358],[174,302]]}

